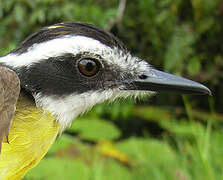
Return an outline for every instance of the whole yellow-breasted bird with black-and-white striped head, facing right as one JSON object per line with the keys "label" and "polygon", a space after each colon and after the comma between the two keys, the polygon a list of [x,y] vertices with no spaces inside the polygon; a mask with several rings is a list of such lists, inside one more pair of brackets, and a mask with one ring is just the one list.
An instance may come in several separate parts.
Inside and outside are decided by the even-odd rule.
{"label": "whole yellow-breasted bird with black-and-white striped head, facing right", "polygon": [[0,57],[0,179],[22,179],[94,105],[156,92],[211,95],[200,83],[155,69],[95,25],[41,28]]}

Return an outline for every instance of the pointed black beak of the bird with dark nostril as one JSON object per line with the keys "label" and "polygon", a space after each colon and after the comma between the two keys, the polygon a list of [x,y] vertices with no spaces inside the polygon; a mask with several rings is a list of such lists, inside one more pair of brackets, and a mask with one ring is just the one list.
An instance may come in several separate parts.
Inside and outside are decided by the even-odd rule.
{"label": "pointed black beak of the bird with dark nostril", "polygon": [[150,69],[148,72],[132,80],[131,84],[133,85],[127,89],[211,95],[211,91],[200,83],[155,69]]}

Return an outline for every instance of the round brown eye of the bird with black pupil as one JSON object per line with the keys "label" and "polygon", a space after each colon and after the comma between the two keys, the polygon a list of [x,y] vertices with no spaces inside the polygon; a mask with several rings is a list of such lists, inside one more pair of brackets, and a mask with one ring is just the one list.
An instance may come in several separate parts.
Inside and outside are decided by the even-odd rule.
{"label": "round brown eye of the bird with black pupil", "polygon": [[81,59],[78,62],[78,69],[84,76],[91,77],[98,73],[100,69],[100,62],[96,59],[90,58]]}

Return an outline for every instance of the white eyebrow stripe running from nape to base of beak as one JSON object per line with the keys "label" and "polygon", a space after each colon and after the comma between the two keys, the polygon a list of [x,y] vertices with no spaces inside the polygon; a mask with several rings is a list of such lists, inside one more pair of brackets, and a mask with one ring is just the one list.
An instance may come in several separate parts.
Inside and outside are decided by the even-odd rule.
{"label": "white eyebrow stripe running from nape to base of beak", "polygon": [[129,72],[137,70],[144,72],[149,68],[148,63],[132,57],[130,53],[123,52],[118,48],[111,48],[100,41],[85,37],[66,35],[57,39],[49,40],[31,46],[23,54],[8,54],[1,57],[1,62],[13,68],[30,66],[50,57],[62,56],[66,53],[74,56],[87,52],[100,55],[108,64],[117,65],[121,69],[128,69]]}

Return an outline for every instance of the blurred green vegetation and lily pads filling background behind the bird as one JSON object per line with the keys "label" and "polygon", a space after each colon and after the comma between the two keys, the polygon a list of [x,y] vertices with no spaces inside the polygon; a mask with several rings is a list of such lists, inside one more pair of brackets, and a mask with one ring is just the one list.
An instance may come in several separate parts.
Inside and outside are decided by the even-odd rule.
{"label": "blurred green vegetation and lily pads filling background behind the bird", "polygon": [[[0,0],[0,54],[40,27],[114,22],[118,0]],[[206,84],[213,97],[160,94],[98,105],[26,180],[223,179],[223,1],[129,0],[112,26],[133,54]]]}

